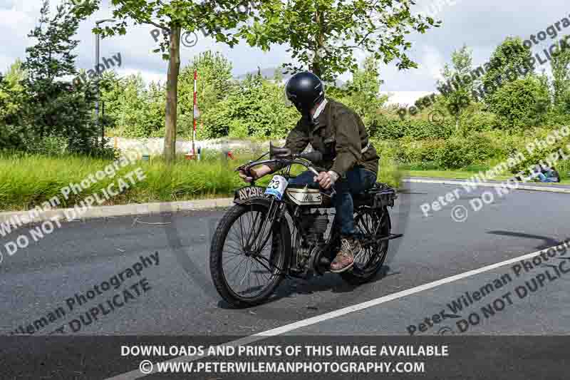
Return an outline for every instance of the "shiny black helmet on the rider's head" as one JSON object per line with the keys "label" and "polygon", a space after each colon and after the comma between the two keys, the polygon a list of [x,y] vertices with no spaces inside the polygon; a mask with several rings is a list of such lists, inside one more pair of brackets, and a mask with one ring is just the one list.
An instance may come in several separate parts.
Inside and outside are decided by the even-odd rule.
{"label": "shiny black helmet on the rider's head", "polygon": [[285,94],[297,111],[308,114],[311,108],[325,98],[325,87],[314,73],[303,71],[289,78],[285,85]]}

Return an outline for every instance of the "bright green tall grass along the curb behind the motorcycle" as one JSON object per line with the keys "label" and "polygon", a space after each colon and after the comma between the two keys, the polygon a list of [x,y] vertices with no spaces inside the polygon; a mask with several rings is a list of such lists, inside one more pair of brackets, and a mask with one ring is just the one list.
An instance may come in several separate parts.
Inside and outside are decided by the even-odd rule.
{"label": "bright green tall grass along the curb behind the motorcycle", "polygon": [[[120,195],[112,197],[106,205],[145,203],[160,201],[192,200],[204,197],[227,197],[234,190],[244,186],[234,168],[252,159],[242,156],[237,160],[224,160],[221,155],[207,155],[204,160],[185,160],[182,156],[172,165],[160,158],[150,161],[139,160],[133,165],[120,168],[111,178],[105,176],[89,188],[68,199],[61,190],[72,183],[81,183],[89,175],[112,163],[110,160],[81,156],[46,157],[41,155],[1,155],[0,154],[0,211],[28,210],[41,206],[52,197],[58,197],[58,207],[73,207],[81,200],[102,190],[111,183],[118,187],[119,178],[136,168],[141,168],[145,179]],[[390,185],[398,185],[398,173],[388,160],[381,162],[380,178]],[[296,168],[294,172],[299,172]],[[270,176],[258,181],[259,185],[269,183]],[[136,177],[134,177],[136,180]]]}

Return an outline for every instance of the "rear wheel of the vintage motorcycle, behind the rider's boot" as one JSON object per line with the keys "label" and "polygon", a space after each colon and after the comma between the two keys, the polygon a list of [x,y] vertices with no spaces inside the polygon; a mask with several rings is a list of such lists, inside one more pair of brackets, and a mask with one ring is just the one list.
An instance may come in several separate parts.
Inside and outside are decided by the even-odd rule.
{"label": "rear wheel of the vintage motorcycle, behind the rider's boot", "polygon": [[378,210],[366,207],[358,210],[354,225],[362,250],[356,255],[353,267],[341,273],[341,277],[349,284],[359,285],[373,279],[386,260],[390,240],[379,239],[390,235],[388,208]]}

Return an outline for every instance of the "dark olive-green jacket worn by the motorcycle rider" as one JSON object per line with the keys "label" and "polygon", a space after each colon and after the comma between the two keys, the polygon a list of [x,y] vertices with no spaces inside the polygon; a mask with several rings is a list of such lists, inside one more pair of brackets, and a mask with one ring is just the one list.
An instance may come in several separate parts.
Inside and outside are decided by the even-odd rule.
{"label": "dark olive-green jacket worn by the motorcycle rider", "polygon": [[[291,153],[301,153],[311,143],[323,154],[318,166],[333,170],[342,177],[356,165],[378,174],[378,153],[368,141],[368,133],[361,118],[342,103],[328,99],[318,116],[317,125],[301,118],[289,132],[285,143]],[[277,170],[276,166],[272,167]]]}

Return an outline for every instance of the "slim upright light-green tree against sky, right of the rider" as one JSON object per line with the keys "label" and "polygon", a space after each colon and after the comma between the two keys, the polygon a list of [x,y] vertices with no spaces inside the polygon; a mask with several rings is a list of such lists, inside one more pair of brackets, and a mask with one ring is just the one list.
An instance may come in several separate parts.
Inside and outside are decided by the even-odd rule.
{"label": "slim upright light-green tree against sky, right of the rider", "polygon": [[[459,129],[460,118],[469,105],[472,98],[473,79],[471,76],[473,56],[472,51],[466,45],[462,46],[459,50],[453,51],[451,54],[451,68],[447,63],[442,70],[443,81],[452,83],[454,86],[453,91],[443,92],[442,100],[445,103],[445,108],[455,118],[455,129]],[[442,81],[439,81],[438,86],[443,87]]]}

